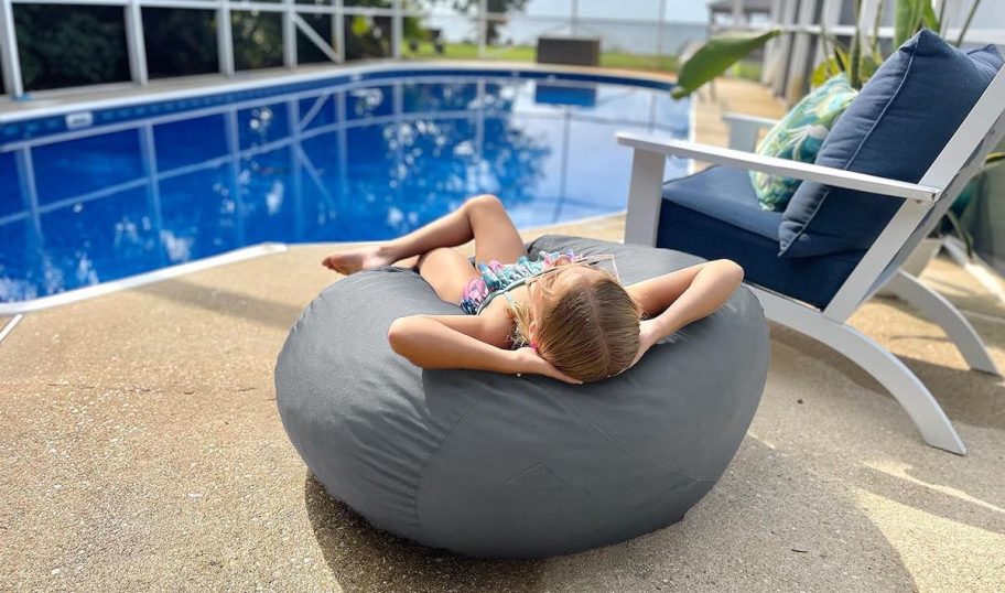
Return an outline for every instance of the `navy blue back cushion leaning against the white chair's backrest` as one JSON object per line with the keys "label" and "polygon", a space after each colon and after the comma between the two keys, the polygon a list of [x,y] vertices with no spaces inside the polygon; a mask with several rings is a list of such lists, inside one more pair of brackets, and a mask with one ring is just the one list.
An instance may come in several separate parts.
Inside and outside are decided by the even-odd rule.
{"label": "navy blue back cushion leaning against the white chair's backrest", "polygon": [[[921,31],[863,86],[828,134],[817,164],[917,183],[1001,66],[992,45],[964,54]],[[781,255],[867,249],[901,203],[803,181],[778,229]]]}

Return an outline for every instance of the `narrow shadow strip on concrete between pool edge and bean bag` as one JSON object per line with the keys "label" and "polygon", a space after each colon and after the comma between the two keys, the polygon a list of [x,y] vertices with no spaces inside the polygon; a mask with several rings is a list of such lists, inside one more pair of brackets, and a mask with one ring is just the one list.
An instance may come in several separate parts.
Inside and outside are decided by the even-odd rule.
{"label": "narrow shadow strip on concrete between pool edge and bean bag", "polygon": [[193,283],[184,278],[173,278],[134,289],[160,299],[195,305],[213,313],[241,317],[257,324],[289,330],[300,316],[301,308]]}

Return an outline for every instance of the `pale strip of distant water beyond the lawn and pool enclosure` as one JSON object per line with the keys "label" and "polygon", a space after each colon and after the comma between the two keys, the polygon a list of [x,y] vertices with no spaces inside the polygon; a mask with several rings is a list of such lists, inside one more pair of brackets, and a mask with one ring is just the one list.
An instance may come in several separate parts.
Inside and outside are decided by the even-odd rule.
{"label": "pale strip of distant water beyond the lawn and pool enclosure", "polygon": [[[469,19],[431,15],[423,24],[430,29],[442,30],[442,35],[447,42],[474,43],[477,39],[477,24]],[[569,21],[547,18],[512,17],[499,29],[502,43],[510,45],[533,45],[542,34],[570,33],[572,31]],[[599,36],[603,51],[644,55],[678,54],[689,43],[707,39],[704,23],[610,22],[581,19],[576,33]]]}

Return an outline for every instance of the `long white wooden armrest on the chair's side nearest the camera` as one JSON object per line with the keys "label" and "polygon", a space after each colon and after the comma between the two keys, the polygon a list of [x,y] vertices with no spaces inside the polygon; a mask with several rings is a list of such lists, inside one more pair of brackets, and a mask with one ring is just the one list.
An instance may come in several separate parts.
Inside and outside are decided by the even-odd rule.
{"label": "long white wooden armrest on the chair's side nearest the camera", "polygon": [[873,194],[906,197],[918,202],[936,202],[942,188],[889,180],[877,175],[866,175],[843,169],[800,163],[788,159],[763,157],[752,152],[710,147],[682,140],[668,140],[629,132],[617,134],[619,144],[631,147],[636,151],[651,152],[670,157],[695,159],[714,164],[723,164],[748,171],[760,171],[772,175],[784,175],[799,180],[815,181],[833,187],[858,190]]}

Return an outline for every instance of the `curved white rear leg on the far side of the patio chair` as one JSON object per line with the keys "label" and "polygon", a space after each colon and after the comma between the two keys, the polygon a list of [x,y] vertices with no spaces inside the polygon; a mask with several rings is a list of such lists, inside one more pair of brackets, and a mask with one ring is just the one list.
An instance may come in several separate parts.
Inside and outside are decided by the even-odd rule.
{"label": "curved white rear leg on the far side of the patio chair", "polygon": [[886,288],[900,296],[926,317],[939,324],[952,339],[966,364],[974,370],[1001,376],[997,365],[987,353],[981,336],[974,331],[966,317],[951,302],[938,292],[922,284],[914,276],[899,270]]}

